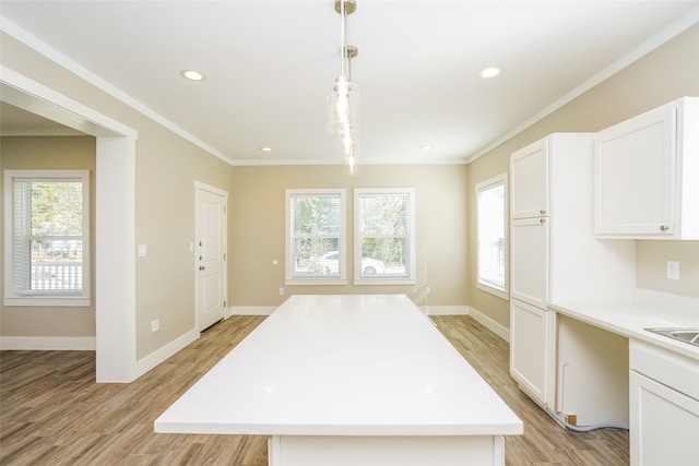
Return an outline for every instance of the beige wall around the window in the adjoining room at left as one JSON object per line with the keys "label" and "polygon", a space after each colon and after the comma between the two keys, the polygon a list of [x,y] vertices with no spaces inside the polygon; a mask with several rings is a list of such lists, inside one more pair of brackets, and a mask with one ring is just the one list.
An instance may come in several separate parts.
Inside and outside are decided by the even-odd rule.
{"label": "beige wall around the window in the adjoining room at left", "polygon": [[[74,138],[0,138],[0,171],[3,170],[90,170],[91,212],[95,216],[95,139]],[[4,182],[4,175],[2,176]],[[4,196],[4,187],[0,187]],[[0,244],[4,243],[4,215],[0,218]],[[94,222],[91,224],[94,237]],[[2,249],[2,248],[0,248]],[[3,255],[4,251],[0,252]],[[94,248],[91,250],[93,271],[92,306],[5,307],[0,302],[0,335],[2,336],[95,336]],[[3,260],[4,264],[4,260]],[[0,285],[2,286],[2,285]]]}

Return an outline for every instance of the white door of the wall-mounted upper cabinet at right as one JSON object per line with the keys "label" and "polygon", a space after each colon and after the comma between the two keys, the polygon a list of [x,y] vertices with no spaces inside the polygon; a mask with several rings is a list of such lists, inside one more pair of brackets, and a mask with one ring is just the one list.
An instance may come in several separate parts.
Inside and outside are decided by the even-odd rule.
{"label": "white door of the wall-mounted upper cabinet at right", "polygon": [[595,138],[597,235],[675,231],[676,108],[664,106]]}

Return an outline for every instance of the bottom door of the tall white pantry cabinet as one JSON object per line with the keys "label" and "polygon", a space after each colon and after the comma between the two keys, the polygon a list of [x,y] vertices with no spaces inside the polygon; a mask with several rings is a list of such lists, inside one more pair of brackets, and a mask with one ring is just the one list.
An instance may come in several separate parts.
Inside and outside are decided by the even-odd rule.
{"label": "bottom door of the tall white pantry cabinet", "polygon": [[542,405],[547,404],[549,311],[510,300],[510,374]]}

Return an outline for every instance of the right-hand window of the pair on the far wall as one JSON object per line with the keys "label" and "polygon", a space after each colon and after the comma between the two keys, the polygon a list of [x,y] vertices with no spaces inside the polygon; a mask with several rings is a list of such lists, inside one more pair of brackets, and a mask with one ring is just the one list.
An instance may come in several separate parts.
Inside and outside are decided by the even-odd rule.
{"label": "right-hand window of the pair on the far wall", "polygon": [[415,284],[415,190],[356,189],[355,285]]}

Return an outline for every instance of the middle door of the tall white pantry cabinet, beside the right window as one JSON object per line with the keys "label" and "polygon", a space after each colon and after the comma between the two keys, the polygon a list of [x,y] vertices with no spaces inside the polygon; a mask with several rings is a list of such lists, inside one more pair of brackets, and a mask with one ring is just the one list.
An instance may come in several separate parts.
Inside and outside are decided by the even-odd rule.
{"label": "middle door of the tall white pantry cabinet, beside the right window", "polygon": [[510,224],[510,297],[538,308],[548,306],[547,217]]}

